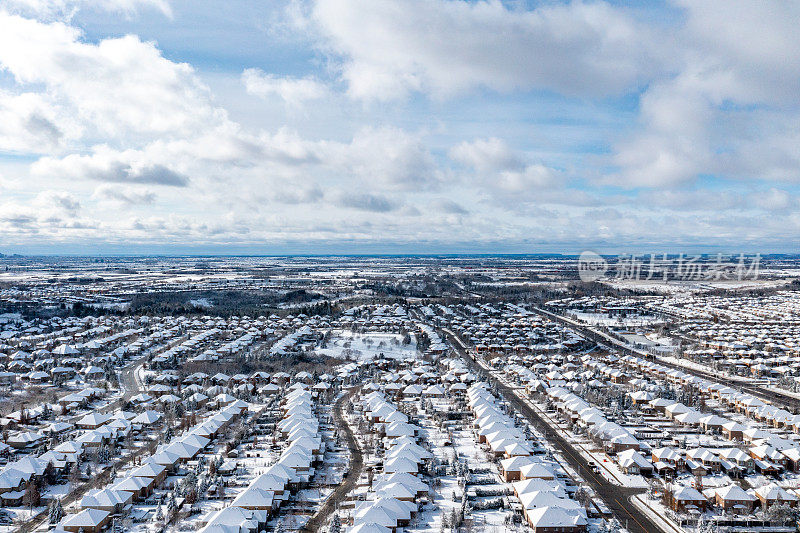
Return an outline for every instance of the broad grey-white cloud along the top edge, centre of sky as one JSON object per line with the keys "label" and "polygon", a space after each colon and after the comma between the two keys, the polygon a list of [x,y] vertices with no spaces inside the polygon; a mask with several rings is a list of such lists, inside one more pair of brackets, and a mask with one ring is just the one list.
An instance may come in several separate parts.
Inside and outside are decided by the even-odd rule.
{"label": "broad grey-white cloud along the top edge, centre of sky", "polygon": [[647,27],[601,3],[316,0],[311,24],[356,98],[488,87],[624,93],[655,68]]}

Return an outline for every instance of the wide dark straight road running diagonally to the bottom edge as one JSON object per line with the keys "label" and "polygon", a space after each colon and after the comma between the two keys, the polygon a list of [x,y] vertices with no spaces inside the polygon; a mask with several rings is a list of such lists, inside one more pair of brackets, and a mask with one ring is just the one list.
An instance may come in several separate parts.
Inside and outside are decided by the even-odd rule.
{"label": "wide dark straight road running diagonally to the bottom edge", "polygon": [[[478,367],[478,363],[467,353],[466,347],[461,342],[461,339],[452,331],[444,330],[444,332],[447,334],[451,345],[456,349],[459,355],[461,355],[472,368]],[[483,368],[483,370],[486,369]],[[627,529],[630,533],[654,533],[655,531],[662,530],[659,525],[650,520],[650,518],[642,513],[629,500],[634,494],[642,493],[643,491],[641,489],[637,490],[621,487],[595,474],[589,467],[588,460],[585,459],[570,442],[553,430],[552,426],[550,426],[538,412],[517,396],[511,387],[504,384],[491,373],[489,373],[489,379],[503,395],[503,398],[513,405],[518,413],[527,418],[529,422],[541,431],[545,438],[561,452],[567,463],[569,463],[569,465],[583,477],[589,486],[594,489],[597,495],[614,513],[617,520],[619,520],[622,525],[627,525]]]}

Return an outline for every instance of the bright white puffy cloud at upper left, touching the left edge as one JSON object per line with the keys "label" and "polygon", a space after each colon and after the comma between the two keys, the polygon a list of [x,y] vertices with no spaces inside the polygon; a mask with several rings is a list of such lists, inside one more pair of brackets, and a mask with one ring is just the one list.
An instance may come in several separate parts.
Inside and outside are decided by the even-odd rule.
{"label": "bright white puffy cloud at upper left, touching the left edge", "polygon": [[[69,129],[73,137],[79,130],[83,137],[130,142],[142,135],[188,135],[224,119],[192,67],[169,61],[154,43],[133,35],[92,44],[63,22],[0,10],[0,67],[17,82],[14,107],[29,115],[36,109],[47,119],[29,124],[33,132],[44,125],[50,135]],[[47,98],[30,102],[29,89],[39,86]],[[68,117],[67,124],[56,116]]]}

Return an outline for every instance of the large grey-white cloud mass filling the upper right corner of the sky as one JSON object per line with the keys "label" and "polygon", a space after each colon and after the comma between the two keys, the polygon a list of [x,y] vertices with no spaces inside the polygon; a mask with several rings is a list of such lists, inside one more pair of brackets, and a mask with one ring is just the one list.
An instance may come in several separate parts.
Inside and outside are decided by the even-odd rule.
{"label": "large grey-white cloud mass filling the upper right corner of the sky", "polygon": [[680,2],[678,66],[640,98],[638,128],[618,142],[628,187],[701,175],[800,181],[800,8],[786,2]]}

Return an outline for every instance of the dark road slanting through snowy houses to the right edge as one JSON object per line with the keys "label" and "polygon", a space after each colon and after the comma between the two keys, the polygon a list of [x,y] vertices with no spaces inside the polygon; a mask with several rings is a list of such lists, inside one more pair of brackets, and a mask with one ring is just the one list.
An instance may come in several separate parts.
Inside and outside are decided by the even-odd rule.
{"label": "dark road slanting through snowy houses to the right edge", "polygon": [[[637,350],[635,348],[631,348],[630,346],[626,345],[624,342],[611,337],[610,335],[606,335],[600,331],[597,331],[585,324],[581,324],[579,322],[575,322],[567,317],[561,316],[556,313],[551,313],[550,311],[546,311],[544,309],[534,307],[534,311],[537,313],[546,316],[547,318],[551,318],[557,322],[564,324],[565,326],[572,328],[581,336],[592,340],[597,343],[601,344],[610,344],[614,346],[614,348],[620,350],[623,353],[635,355],[637,357],[642,357],[644,359],[654,359],[653,356],[645,351]],[[800,399],[795,398],[794,396],[790,396],[788,394],[783,394],[780,392],[776,392],[759,385],[753,385],[742,380],[734,379],[723,374],[719,373],[710,373],[704,372],[702,370],[697,370],[694,368],[688,368],[681,365],[676,365],[674,363],[670,363],[664,361],[660,358],[655,358],[659,364],[662,364],[666,367],[673,368],[675,370],[681,370],[682,372],[686,372],[687,374],[692,374],[697,377],[707,379],[709,381],[714,381],[716,383],[722,383],[723,385],[727,385],[731,388],[740,390],[742,392],[747,392],[748,394],[752,394],[753,396],[757,396],[763,400],[767,400],[772,404],[785,407],[795,413],[800,412]]]}

